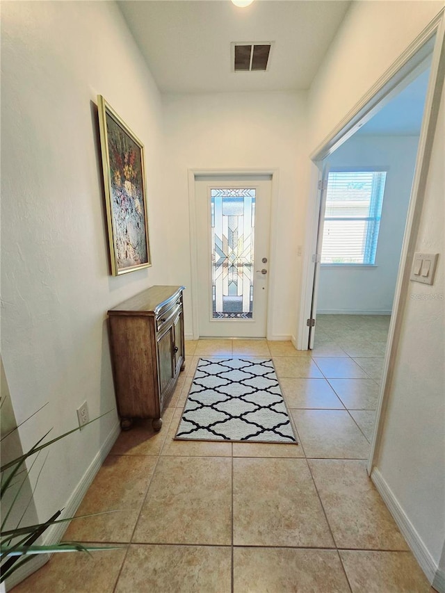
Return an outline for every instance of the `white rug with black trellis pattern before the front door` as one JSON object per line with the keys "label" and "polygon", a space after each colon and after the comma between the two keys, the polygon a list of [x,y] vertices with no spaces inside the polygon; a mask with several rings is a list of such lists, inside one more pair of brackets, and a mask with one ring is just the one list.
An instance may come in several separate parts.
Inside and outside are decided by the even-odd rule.
{"label": "white rug with black trellis pattern before the front door", "polygon": [[272,360],[201,358],[175,438],[296,444]]}

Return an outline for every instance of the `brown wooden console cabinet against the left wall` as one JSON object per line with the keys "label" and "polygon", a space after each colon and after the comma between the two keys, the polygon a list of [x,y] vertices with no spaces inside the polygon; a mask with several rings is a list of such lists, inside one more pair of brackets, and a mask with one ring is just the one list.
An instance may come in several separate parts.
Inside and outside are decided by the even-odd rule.
{"label": "brown wooden console cabinet against the left wall", "polygon": [[116,400],[122,429],[152,418],[161,430],[163,407],[184,370],[184,286],[152,286],[108,311]]}

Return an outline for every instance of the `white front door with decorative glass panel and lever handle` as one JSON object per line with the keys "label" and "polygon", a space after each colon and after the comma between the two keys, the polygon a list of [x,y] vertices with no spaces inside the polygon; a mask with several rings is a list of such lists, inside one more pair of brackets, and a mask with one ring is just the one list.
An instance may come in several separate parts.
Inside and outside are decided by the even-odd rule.
{"label": "white front door with decorative glass panel and lever handle", "polygon": [[195,181],[200,336],[266,336],[271,186]]}

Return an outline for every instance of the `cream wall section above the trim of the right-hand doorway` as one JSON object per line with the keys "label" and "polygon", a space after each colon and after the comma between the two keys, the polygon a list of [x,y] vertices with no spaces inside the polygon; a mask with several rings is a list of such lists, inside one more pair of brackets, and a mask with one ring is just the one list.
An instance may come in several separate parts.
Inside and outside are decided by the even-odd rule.
{"label": "cream wall section above the trim of the right-hand doorway", "polygon": [[351,3],[309,90],[309,151],[313,152],[389,69],[444,1]]}

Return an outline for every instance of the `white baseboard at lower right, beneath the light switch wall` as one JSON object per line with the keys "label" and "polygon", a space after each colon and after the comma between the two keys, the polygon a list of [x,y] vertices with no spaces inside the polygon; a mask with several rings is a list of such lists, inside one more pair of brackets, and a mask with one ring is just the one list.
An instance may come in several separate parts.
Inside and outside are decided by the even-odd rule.
{"label": "white baseboard at lower right, beneath the light switch wall", "polygon": [[[405,537],[410,550],[414,554],[414,558],[416,558],[417,562],[419,562],[419,566],[425,573],[426,578],[428,578],[428,583],[432,583],[433,581],[437,580],[437,574],[442,571],[438,570],[437,564],[432,558],[432,555],[428,551],[426,545],[423,543],[419,533],[417,533],[416,528],[414,528],[414,525],[411,523],[410,519],[407,517],[407,514],[394,495],[394,492],[392,492],[392,490],[389,488],[385,478],[383,478],[378,469],[373,469],[373,472],[371,473],[371,480],[373,480],[380,496],[382,496],[385,505],[387,505],[394,521],[396,521],[403,537]],[[444,581],[442,580],[442,584],[443,582]],[[440,589],[439,592],[445,593],[444,590]]]}

